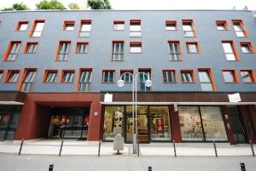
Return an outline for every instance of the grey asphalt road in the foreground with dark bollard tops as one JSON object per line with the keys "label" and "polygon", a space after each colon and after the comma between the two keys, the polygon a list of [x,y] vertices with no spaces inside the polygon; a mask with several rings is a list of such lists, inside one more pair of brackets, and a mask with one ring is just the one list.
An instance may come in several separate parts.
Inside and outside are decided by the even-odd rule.
{"label": "grey asphalt road in the foreground with dark bollard tops", "polygon": [[0,153],[0,171],[247,171],[256,170],[256,157],[135,157],[135,156],[48,156]]}

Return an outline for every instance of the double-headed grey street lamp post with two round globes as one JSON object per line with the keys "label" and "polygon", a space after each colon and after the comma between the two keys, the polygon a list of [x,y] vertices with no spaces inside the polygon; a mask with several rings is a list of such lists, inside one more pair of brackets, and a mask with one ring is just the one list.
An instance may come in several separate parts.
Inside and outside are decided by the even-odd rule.
{"label": "double-headed grey street lamp post with two round globes", "polygon": [[[118,86],[123,87],[125,85],[125,81],[122,80],[122,77],[125,74],[129,74],[132,77],[132,119],[133,119],[133,127],[132,127],[132,145],[133,145],[133,154],[137,154],[137,76],[140,74],[146,75],[148,79],[145,81],[146,87],[150,87],[152,82],[150,80],[149,74],[145,72],[137,72],[136,74],[132,74],[131,72],[124,72],[121,74],[120,79],[118,81]],[[134,79],[135,78],[135,79]],[[135,110],[135,112],[134,112]]]}

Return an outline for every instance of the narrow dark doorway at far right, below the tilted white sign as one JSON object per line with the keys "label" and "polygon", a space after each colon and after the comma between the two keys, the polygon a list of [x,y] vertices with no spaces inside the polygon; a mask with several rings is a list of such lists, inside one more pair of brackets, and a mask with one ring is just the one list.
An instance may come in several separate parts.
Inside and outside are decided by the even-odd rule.
{"label": "narrow dark doorway at far right, below the tilted white sign", "polygon": [[236,106],[228,106],[230,123],[236,144],[247,143],[245,131],[240,120],[240,113]]}

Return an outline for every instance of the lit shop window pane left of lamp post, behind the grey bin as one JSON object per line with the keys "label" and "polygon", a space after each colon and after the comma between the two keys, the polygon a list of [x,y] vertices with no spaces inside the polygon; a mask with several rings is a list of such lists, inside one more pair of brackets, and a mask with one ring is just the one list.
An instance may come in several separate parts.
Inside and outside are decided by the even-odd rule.
{"label": "lit shop window pane left of lamp post, behind the grey bin", "polygon": [[124,106],[105,106],[103,140],[113,140],[117,134],[124,136]]}

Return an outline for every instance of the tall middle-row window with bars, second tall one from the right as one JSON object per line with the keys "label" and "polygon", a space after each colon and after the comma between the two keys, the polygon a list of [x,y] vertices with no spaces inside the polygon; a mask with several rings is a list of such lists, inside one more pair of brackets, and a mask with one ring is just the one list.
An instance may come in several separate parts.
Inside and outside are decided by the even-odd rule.
{"label": "tall middle-row window with bars, second tall one from the right", "polygon": [[173,61],[182,60],[179,41],[169,41],[169,59]]}

